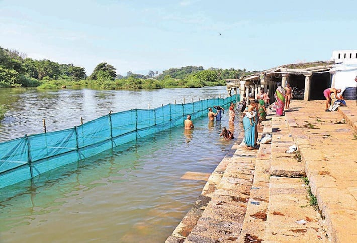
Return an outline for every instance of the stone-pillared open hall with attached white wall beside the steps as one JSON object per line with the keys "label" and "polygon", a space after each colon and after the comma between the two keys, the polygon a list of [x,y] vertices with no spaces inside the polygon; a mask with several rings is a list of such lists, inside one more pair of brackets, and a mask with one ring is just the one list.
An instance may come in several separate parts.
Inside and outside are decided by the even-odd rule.
{"label": "stone-pillared open hall with attached white wall beside the steps", "polygon": [[234,83],[227,81],[227,91],[230,95],[232,89],[237,93],[239,88],[242,100],[249,93],[256,97],[260,87],[264,87],[272,103],[277,82],[281,82],[283,87],[289,83],[291,87],[303,90],[303,96],[298,98],[324,100],[323,91],[326,88],[340,88],[343,92],[349,86],[355,87],[356,75],[357,51],[334,51],[330,61],[282,65],[241,77]]}

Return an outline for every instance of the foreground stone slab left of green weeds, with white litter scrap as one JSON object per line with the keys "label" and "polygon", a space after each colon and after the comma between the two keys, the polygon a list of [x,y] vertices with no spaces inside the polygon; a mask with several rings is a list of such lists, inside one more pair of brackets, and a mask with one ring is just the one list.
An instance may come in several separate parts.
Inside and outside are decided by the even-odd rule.
{"label": "foreground stone slab left of green weeds, with white litter scrap", "polygon": [[301,178],[271,176],[264,241],[328,242]]}

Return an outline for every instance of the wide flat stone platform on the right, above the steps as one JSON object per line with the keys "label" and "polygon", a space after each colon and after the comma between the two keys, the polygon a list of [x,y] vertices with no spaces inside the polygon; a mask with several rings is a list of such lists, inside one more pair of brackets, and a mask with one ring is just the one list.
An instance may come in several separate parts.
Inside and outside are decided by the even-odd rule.
{"label": "wide flat stone platform on the right, above the steps", "polygon": [[294,140],[332,242],[357,238],[357,111],[350,105],[324,112],[300,102],[299,113],[287,115],[305,137],[305,141]]}

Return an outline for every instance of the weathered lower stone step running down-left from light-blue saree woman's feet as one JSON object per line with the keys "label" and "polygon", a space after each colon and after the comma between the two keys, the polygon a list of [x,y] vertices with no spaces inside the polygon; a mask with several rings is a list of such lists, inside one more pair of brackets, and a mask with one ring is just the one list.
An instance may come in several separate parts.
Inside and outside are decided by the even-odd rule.
{"label": "weathered lower stone step running down-left from light-blue saree woman's feet", "polygon": [[[185,242],[238,240],[253,184],[256,150],[238,146]],[[209,187],[209,186],[208,186]],[[207,191],[204,189],[204,192]]]}

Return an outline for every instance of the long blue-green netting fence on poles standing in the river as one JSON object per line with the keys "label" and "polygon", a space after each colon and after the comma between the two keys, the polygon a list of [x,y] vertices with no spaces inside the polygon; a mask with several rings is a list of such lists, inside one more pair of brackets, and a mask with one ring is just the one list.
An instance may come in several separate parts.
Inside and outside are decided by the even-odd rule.
{"label": "long blue-green netting fence on poles standing in the river", "polygon": [[138,138],[182,126],[207,115],[207,109],[225,106],[236,96],[187,104],[168,104],[155,109],[132,109],[108,114],[80,126],[49,133],[25,135],[0,143],[0,188],[31,179]]}

